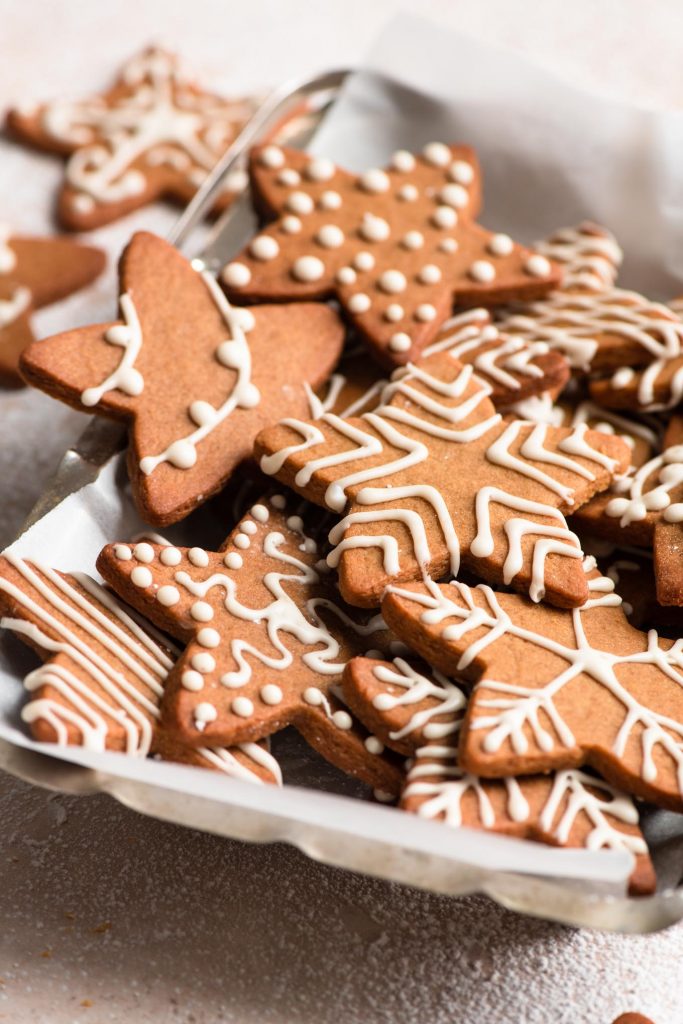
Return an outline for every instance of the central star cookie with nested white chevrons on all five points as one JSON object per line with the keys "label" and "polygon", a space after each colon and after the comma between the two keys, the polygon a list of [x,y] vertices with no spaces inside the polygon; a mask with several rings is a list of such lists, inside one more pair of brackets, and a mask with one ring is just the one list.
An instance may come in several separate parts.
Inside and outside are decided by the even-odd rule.
{"label": "central star cookie with nested white chevrons on all five points", "polygon": [[461,563],[533,600],[586,600],[563,513],[604,490],[630,450],[585,426],[506,422],[489,390],[439,352],[394,374],[361,418],[290,418],[257,437],[264,472],[344,513],[329,560],[349,603],[375,606],[388,584]]}

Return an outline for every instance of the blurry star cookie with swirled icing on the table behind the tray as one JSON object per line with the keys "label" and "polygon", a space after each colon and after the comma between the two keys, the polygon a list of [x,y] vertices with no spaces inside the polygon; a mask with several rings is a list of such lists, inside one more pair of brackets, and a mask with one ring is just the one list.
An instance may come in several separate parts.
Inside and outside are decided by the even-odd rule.
{"label": "blurry star cookie with swirled icing on the table behind the tray", "polygon": [[[89,230],[162,197],[185,205],[254,109],[250,100],[207,92],[175,54],[148,47],[106,92],[14,108],[7,127],[19,140],[69,158],[59,219]],[[228,178],[217,208],[246,182],[244,171]]]}

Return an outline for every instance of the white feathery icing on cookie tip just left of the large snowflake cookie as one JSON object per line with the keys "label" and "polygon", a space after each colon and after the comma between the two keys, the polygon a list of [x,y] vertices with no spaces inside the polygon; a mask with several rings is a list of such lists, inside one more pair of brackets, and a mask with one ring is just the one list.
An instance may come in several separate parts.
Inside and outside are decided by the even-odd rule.
{"label": "white feathery icing on cookie tip just left of the large snowflake cookie", "polygon": [[[422,731],[426,739],[442,739],[450,736],[460,727],[456,714],[464,712],[466,698],[460,687],[452,683],[440,672],[432,670],[431,678],[418,672],[401,657],[395,657],[391,667],[378,665],[373,669],[373,675],[388,687],[399,687],[402,692],[397,694],[385,691],[373,697],[373,706],[377,711],[393,711],[420,703],[422,700],[432,701],[430,707],[416,712],[401,729],[389,732],[391,739],[402,739],[417,729]],[[445,722],[432,722],[433,718],[450,716]]]}

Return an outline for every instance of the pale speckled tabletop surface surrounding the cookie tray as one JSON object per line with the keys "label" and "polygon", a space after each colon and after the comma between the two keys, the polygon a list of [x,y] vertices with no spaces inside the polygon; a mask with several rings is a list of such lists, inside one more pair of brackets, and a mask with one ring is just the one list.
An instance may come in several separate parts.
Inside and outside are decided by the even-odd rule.
{"label": "pale speckled tabletop surface surrounding the cookie tray", "polygon": [[[683,103],[677,0],[0,0],[0,102],[103,86],[153,39],[216,87],[261,89],[357,62],[401,6],[613,95]],[[0,220],[46,230],[59,173],[2,144]],[[159,209],[98,237],[116,253],[133,226],[170,220]],[[106,315],[111,280],[42,313],[39,331]],[[0,543],[82,425],[41,395],[0,394]],[[629,1009],[683,1022],[683,927],[571,932],[7,776],[0,822],[0,1019],[12,1024],[609,1024]]]}

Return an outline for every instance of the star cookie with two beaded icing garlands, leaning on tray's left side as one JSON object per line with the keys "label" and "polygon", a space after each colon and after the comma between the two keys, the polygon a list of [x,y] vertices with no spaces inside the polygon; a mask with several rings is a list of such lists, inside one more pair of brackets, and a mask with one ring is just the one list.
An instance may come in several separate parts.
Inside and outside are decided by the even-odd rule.
{"label": "star cookie with two beaded icing garlands, leaning on tray's left side", "polygon": [[121,321],[30,345],[22,373],[81,411],[129,424],[133,497],[165,525],[219,490],[306,383],[337,362],[343,329],[319,303],[236,308],[172,246],[136,233],[121,259]]}

